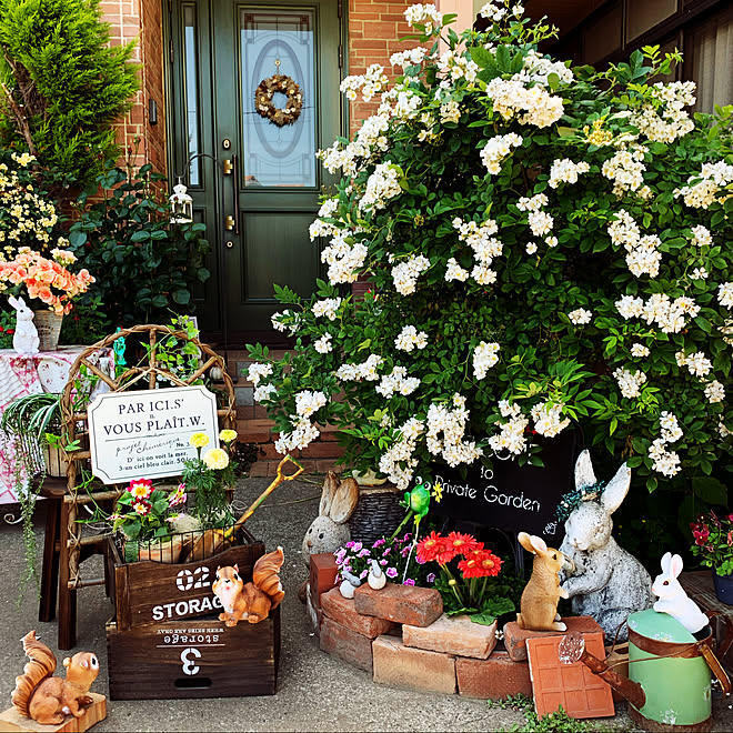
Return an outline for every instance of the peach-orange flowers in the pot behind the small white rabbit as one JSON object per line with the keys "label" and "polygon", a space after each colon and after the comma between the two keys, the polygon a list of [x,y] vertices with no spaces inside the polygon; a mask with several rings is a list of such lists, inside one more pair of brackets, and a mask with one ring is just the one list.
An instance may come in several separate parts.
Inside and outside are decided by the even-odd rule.
{"label": "peach-orange flowers in the pot behind the small white rabbit", "polygon": [[0,262],[0,292],[22,294],[26,288],[29,298],[38,298],[56,313],[69,313],[71,300],[87,292],[94,278],[87,269],[73,273],[68,265],[77,258],[67,250],[54,249],[49,260],[29,247],[21,247],[16,257]]}

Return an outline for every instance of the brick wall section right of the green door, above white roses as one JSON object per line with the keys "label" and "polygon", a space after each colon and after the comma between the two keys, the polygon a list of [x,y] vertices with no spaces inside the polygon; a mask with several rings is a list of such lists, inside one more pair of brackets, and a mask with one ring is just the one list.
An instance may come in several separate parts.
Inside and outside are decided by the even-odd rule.
{"label": "brick wall section right of the green door, above white roses", "polygon": [[[380,63],[390,80],[396,76],[390,66],[390,56],[412,48],[414,41],[400,42],[398,39],[411,32],[404,21],[404,11],[414,0],[349,0],[349,73],[361,74],[372,63]],[[371,102],[361,100],[350,104],[351,133],[361,122],[373,114],[379,99]]]}

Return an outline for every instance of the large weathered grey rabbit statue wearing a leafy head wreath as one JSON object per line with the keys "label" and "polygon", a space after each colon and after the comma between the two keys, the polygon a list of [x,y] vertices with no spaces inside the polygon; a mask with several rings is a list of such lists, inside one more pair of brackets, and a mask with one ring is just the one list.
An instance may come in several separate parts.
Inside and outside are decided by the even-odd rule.
{"label": "large weathered grey rabbit statue wearing a leafy head wreath", "polygon": [[[580,501],[565,521],[560,545],[574,569],[564,573],[562,588],[572,599],[573,612],[593,616],[606,637],[626,641],[621,627],[629,614],[651,608],[652,579],[633,555],[611,536],[611,515],[621,505],[631,483],[631,470],[622,464],[596,499]],[[578,489],[596,484],[591,455],[583,451],[575,463]]]}

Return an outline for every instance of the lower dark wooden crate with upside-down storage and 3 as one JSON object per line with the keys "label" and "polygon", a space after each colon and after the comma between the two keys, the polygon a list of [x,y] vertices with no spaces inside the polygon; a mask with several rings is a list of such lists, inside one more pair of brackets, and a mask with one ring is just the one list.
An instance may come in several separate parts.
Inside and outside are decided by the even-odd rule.
{"label": "lower dark wooden crate with upside-down storage and 3", "polygon": [[280,608],[260,623],[169,621],[120,631],[107,624],[110,700],[273,695]]}

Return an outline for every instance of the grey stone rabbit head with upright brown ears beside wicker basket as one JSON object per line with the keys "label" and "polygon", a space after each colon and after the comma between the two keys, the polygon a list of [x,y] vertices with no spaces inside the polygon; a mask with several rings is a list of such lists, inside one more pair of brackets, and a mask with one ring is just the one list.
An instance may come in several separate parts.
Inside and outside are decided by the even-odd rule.
{"label": "grey stone rabbit head with upright brown ears beside wicker basket", "polygon": [[323,482],[323,492],[318,516],[303,538],[303,561],[310,568],[311,555],[334,552],[351,539],[349,518],[359,502],[359,484],[353,479],[339,481],[329,471]]}

